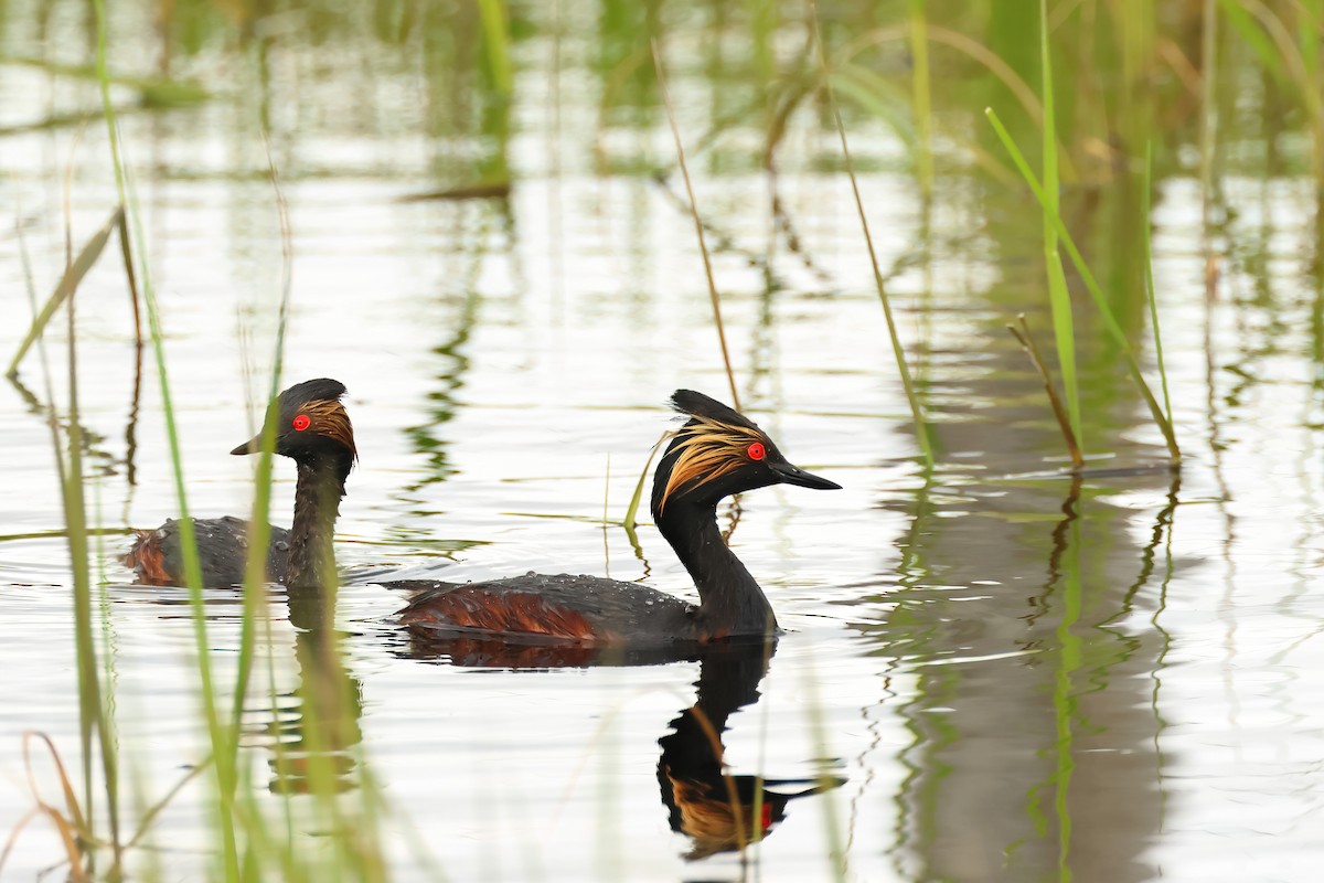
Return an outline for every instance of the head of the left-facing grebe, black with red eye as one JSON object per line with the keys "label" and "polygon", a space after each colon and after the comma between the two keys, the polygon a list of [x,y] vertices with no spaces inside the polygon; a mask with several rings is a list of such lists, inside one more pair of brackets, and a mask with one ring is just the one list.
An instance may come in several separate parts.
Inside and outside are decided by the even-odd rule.
{"label": "head of the left-facing grebe, black with red eye", "polygon": [[[354,446],[354,426],[340,404],[346,393],[339,380],[305,380],[281,393],[269,418],[275,420],[275,453],[299,463],[330,461],[340,467],[342,479],[359,457]],[[262,450],[262,433],[244,442],[232,454]]]}

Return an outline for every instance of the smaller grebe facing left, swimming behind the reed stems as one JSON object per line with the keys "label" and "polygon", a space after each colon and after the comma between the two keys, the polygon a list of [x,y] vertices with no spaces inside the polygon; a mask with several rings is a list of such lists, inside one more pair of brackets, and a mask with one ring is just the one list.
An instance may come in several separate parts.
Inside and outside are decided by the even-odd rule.
{"label": "smaller grebe facing left, swimming behind the reed stems", "polygon": [[[344,482],[357,457],[354,426],[340,404],[344,384],[320,377],[281,393],[275,409],[275,453],[298,466],[294,524],[271,528],[266,576],[290,588],[322,588],[335,580],[331,540],[344,496]],[[232,454],[262,450],[262,434]],[[184,585],[180,524],[168,520],[151,532],[139,532],[124,564],[147,585]],[[249,523],[240,518],[195,519],[204,586],[244,581]]]}

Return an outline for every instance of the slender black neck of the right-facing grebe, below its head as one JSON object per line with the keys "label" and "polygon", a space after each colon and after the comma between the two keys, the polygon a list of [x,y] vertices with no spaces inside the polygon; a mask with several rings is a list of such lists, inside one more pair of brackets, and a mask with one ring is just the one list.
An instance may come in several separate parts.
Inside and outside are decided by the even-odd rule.
{"label": "slender black neck of the right-facing grebe, below its head", "polygon": [[675,499],[654,512],[654,520],[699,589],[703,634],[727,637],[777,631],[777,617],[768,597],[722,539],[716,502]]}

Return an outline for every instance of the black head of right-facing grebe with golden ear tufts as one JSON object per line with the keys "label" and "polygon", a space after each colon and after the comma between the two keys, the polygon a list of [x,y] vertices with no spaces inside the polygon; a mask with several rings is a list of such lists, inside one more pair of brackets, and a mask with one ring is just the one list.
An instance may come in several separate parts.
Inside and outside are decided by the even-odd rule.
{"label": "black head of right-facing grebe with golden ear tufts", "polygon": [[654,519],[682,499],[715,506],[723,496],[769,485],[841,487],[793,466],[752,420],[720,401],[677,389],[671,406],[690,420],[677,430],[653,477]]}

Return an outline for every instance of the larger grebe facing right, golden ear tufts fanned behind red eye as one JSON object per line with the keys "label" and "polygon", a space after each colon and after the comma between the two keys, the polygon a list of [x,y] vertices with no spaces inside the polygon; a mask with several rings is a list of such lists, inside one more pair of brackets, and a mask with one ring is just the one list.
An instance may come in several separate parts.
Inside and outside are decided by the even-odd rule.
{"label": "larger grebe facing right, golden ear tufts fanned behind red eye", "polygon": [[653,477],[653,520],[699,590],[698,606],[634,582],[528,573],[489,582],[384,582],[421,588],[399,621],[420,638],[491,635],[638,646],[769,635],[777,618],[763,589],[722,541],[718,502],[769,485],[839,485],[792,466],[743,414],[678,389],[671,405],[690,420]]}

